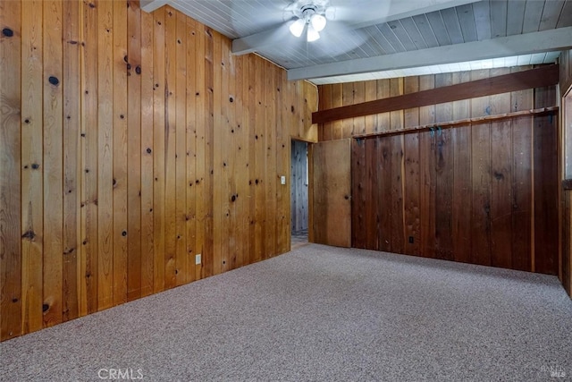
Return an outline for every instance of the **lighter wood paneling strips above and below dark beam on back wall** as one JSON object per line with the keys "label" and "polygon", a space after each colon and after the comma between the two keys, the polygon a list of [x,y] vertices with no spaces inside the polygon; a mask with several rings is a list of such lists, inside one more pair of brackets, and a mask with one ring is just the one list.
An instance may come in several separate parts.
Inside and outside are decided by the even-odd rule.
{"label": "lighter wood paneling strips above and below dark beam on back wall", "polygon": [[[411,76],[377,81],[346,82],[318,87],[319,110],[349,106],[375,99],[390,98],[419,90],[442,88],[468,81],[521,72],[532,66],[487,69]],[[465,99],[436,106],[413,107],[377,115],[347,118],[318,124],[318,138],[339,140],[361,134],[375,134],[429,123],[457,121],[466,118],[529,110],[534,107],[533,90],[521,90],[505,95]],[[556,104],[552,104],[554,106]]]}

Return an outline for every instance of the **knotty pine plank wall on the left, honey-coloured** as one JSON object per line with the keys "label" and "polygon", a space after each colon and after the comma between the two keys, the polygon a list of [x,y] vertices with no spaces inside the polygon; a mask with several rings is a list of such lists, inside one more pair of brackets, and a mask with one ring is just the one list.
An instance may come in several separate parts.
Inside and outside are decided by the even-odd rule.
{"label": "knotty pine plank wall on the left, honey-coloured", "polygon": [[290,249],[314,86],[169,7],[3,1],[0,23],[2,340]]}

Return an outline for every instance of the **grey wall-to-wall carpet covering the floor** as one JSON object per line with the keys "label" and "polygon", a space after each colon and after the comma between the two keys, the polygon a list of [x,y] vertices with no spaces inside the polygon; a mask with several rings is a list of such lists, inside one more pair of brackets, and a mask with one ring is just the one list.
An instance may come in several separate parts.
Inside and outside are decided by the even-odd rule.
{"label": "grey wall-to-wall carpet covering the floor", "polygon": [[0,380],[572,377],[555,276],[307,244],[0,344]]}

